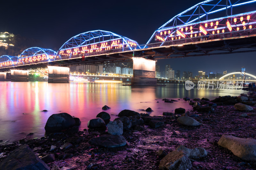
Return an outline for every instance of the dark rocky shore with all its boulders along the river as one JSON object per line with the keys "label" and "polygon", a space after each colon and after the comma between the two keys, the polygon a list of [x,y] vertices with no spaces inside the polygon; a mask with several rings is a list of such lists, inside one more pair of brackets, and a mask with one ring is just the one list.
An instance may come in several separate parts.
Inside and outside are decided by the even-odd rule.
{"label": "dark rocky shore with all its boulders along the river", "polygon": [[44,137],[0,145],[0,169],[256,169],[255,92],[183,100],[192,111],[150,116],[149,105],[114,121],[105,105],[84,131],[78,118],[53,114]]}

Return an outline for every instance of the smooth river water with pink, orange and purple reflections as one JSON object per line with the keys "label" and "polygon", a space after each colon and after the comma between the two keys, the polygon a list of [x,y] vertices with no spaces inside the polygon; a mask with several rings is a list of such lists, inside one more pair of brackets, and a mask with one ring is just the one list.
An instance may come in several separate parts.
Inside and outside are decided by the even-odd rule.
{"label": "smooth river water with pink, orange and purple reflections", "polygon": [[[66,112],[81,120],[80,130],[87,128],[87,122],[102,112],[102,106],[114,120],[117,114],[130,109],[151,107],[150,115],[162,115],[175,108],[191,110],[184,100],[164,103],[163,98],[183,97],[214,99],[218,96],[238,96],[246,93],[236,89],[191,89],[184,84],[167,84],[158,87],[122,86],[116,83],[47,83],[47,82],[0,82],[0,140],[17,141],[29,133],[31,138],[44,136],[44,126],[49,116]],[[159,103],[156,103],[159,101]],[[48,112],[42,112],[48,110]],[[25,114],[23,114],[25,113]],[[28,137],[28,136],[27,136]]]}

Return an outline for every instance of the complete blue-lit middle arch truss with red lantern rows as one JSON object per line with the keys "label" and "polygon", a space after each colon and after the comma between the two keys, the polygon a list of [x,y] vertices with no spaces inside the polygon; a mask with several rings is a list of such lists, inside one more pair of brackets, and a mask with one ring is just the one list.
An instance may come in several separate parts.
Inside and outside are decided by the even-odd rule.
{"label": "complete blue-lit middle arch truss with red lantern rows", "polygon": [[70,38],[64,43],[58,55],[61,59],[91,56],[110,52],[140,48],[139,44],[127,37],[103,30],[88,31]]}

